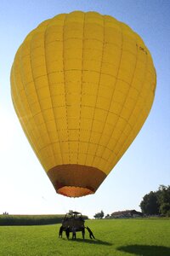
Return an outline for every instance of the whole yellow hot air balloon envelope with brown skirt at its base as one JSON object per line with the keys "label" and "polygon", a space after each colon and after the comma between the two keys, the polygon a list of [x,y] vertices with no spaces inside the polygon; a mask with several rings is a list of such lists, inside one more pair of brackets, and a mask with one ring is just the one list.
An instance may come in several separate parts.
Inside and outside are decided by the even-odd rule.
{"label": "whole yellow hot air balloon envelope with brown skirt at its base", "polygon": [[93,194],[147,118],[156,71],[139,35],[75,11],[28,34],[11,70],[15,111],[57,193]]}

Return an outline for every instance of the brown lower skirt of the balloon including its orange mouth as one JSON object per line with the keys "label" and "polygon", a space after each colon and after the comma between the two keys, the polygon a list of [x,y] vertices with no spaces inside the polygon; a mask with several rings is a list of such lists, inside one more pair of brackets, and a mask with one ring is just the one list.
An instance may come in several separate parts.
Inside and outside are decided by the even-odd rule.
{"label": "brown lower skirt of the balloon including its orange mouth", "polygon": [[55,191],[68,197],[94,194],[106,174],[94,166],[66,164],[54,166],[47,172]]}

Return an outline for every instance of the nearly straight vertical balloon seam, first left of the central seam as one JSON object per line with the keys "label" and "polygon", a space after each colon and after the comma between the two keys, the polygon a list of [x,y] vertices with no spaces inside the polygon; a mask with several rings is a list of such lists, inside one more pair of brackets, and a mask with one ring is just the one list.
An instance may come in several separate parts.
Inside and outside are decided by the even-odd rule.
{"label": "nearly straight vertical balloon seam, first left of the central seam", "polygon": [[[64,79],[64,88],[65,88],[65,22],[67,19],[67,15],[65,15],[65,20],[63,23],[63,79]],[[69,164],[71,163],[71,155],[70,155],[70,138],[69,138],[69,124],[68,124],[68,113],[67,113],[67,104],[66,104],[66,88],[65,88],[65,118],[66,118],[66,125],[67,125],[67,137],[68,137],[68,157],[69,157]]]}

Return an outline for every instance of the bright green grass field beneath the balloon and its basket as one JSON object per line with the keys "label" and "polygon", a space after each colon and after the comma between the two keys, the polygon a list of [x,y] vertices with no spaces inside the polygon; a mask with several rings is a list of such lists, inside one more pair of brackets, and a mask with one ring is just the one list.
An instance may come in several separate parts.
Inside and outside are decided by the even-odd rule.
{"label": "bright green grass field beneath the balloon and its basket", "polygon": [[96,240],[58,238],[60,224],[41,226],[1,226],[0,255],[170,255],[170,219],[101,219],[86,220]]}

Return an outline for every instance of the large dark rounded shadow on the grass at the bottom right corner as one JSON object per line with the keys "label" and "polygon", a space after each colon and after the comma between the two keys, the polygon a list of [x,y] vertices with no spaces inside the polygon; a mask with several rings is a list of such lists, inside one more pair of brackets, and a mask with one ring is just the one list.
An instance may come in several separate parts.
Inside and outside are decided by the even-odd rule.
{"label": "large dark rounded shadow on the grass at the bottom right corner", "polygon": [[125,247],[117,247],[118,251],[133,253],[135,255],[143,256],[168,256],[170,255],[170,247],[161,247],[161,246],[149,246],[149,245],[128,245]]}

